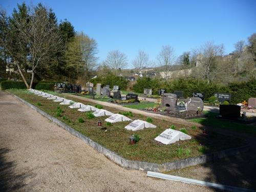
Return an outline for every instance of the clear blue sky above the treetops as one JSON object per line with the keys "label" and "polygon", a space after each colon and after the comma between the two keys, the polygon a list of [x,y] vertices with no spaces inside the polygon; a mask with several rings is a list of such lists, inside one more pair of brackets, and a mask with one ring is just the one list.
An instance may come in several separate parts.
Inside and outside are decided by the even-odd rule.
{"label": "clear blue sky above the treetops", "polygon": [[127,56],[127,68],[132,68],[139,50],[154,61],[162,46],[172,46],[178,57],[214,41],[228,54],[237,41],[256,33],[256,0],[0,0],[0,6],[11,14],[22,2],[40,2],[53,9],[58,22],[67,19],[77,32],[94,38],[99,62],[110,51],[121,51]]}

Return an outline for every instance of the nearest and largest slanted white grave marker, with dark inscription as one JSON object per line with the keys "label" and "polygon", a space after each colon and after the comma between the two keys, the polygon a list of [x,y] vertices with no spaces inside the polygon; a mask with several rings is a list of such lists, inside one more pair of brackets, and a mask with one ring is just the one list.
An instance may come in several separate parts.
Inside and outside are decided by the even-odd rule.
{"label": "nearest and largest slanted white grave marker, with dark inscription", "polygon": [[163,133],[161,133],[159,136],[155,138],[156,141],[161,142],[163,144],[172,144],[179,140],[186,140],[191,139],[191,136],[184,134],[180,131],[167,129]]}

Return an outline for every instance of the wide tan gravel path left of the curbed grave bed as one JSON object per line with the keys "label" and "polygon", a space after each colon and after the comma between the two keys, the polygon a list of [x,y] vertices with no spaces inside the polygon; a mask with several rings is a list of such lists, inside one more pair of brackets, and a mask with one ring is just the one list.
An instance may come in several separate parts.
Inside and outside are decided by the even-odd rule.
{"label": "wide tan gravel path left of the curbed grave bed", "polygon": [[0,191],[215,191],[119,167],[0,91]]}

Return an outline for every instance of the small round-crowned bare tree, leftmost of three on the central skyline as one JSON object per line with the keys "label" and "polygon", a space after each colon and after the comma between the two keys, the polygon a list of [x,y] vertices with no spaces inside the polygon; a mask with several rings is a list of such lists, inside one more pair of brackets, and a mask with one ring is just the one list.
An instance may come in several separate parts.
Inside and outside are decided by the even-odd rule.
{"label": "small round-crowned bare tree, leftmost of three on the central skyline", "polygon": [[109,52],[105,60],[105,65],[114,70],[115,75],[121,75],[121,69],[127,66],[127,58],[119,50]]}

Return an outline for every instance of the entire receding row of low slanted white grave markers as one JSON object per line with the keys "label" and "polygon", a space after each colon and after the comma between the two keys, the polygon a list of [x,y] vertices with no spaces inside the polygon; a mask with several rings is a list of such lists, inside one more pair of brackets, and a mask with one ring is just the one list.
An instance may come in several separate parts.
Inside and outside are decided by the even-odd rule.
{"label": "entire receding row of low slanted white grave markers", "polygon": [[[121,115],[121,114],[114,114],[109,111],[103,110],[103,109],[97,109],[94,106],[91,105],[85,105],[80,102],[74,102],[69,99],[61,98],[55,95],[51,95],[48,93],[40,92],[37,90],[30,89],[29,92],[34,93],[38,96],[42,96],[47,99],[52,99],[54,102],[60,102],[60,104],[71,104],[69,108],[71,109],[78,109],[80,112],[87,112],[87,111],[94,111],[93,115],[95,117],[101,117],[101,116],[110,116],[109,118],[106,118],[105,121],[115,123],[115,122],[120,122],[120,121],[132,121],[132,119]],[[156,125],[152,123],[148,123],[146,121],[142,121],[140,119],[134,120],[130,124],[126,125],[124,127],[127,130],[131,131],[138,131],[138,130],[143,130],[144,128],[156,128]],[[179,140],[186,140],[186,139],[191,139],[191,137],[187,134],[184,134],[180,131],[172,130],[172,129],[167,129],[163,133],[161,133],[159,136],[155,138],[156,141],[161,142],[163,144],[172,144],[175,143]]]}

